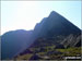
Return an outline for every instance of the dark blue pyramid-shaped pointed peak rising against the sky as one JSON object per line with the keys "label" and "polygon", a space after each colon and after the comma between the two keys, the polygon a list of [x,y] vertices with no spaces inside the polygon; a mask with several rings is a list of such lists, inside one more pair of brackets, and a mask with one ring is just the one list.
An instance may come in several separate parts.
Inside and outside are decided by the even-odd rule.
{"label": "dark blue pyramid-shaped pointed peak rising against the sky", "polygon": [[[39,32],[39,33],[37,33]],[[37,37],[50,37],[57,35],[80,34],[80,29],[67,19],[52,11],[50,15],[35,26],[34,34]]]}

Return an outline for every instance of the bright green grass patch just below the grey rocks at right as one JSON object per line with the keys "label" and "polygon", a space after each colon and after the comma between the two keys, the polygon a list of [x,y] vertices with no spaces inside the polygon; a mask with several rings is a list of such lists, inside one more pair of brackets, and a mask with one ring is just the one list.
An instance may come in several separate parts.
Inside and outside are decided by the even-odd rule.
{"label": "bright green grass patch just below the grey rocks at right", "polygon": [[67,49],[57,49],[57,51],[63,52],[65,56],[74,57],[81,56],[81,47],[71,47]]}

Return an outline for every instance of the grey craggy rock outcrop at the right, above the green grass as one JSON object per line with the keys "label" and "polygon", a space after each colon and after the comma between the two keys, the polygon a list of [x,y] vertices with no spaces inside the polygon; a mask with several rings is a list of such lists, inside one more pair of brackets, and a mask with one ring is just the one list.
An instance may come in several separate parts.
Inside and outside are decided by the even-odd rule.
{"label": "grey craggy rock outcrop at the right, above the green grass", "polygon": [[67,36],[62,41],[61,44],[68,48],[68,47],[80,47],[81,46],[81,38],[82,36],[81,35],[69,35]]}

